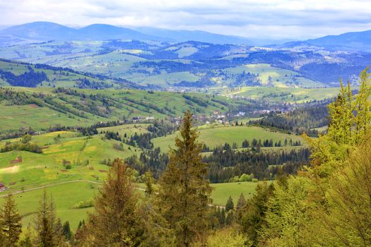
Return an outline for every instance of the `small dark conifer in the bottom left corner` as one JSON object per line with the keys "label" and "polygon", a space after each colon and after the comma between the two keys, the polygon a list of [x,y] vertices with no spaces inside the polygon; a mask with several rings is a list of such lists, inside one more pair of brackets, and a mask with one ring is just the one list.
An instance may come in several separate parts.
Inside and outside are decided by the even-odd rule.
{"label": "small dark conifer in the bottom left corner", "polygon": [[20,214],[16,207],[16,201],[11,194],[5,199],[0,211],[0,226],[4,234],[4,246],[15,246],[22,232]]}

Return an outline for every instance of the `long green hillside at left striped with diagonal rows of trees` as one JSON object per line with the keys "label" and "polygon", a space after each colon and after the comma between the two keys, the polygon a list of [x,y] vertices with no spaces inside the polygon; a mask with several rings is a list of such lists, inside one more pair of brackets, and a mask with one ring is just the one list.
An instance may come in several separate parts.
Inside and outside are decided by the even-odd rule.
{"label": "long green hillside at left striped with diagonal rows of trees", "polygon": [[89,126],[100,121],[133,117],[164,119],[190,109],[206,116],[227,112],[248,102],[196,93],[143,90],[69,90],[52,88],[0,88],[0,131],[56,125]]}

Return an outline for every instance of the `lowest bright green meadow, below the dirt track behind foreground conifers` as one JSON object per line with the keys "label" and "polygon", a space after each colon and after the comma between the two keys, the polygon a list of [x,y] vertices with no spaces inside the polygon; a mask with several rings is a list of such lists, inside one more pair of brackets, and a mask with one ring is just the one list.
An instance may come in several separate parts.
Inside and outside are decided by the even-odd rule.
{"label": "lowest bright green meadow, below the dirt track behind foreground conifers", "polygon": [[[211,194],[214,204],[225,205],[228,197],[232,196],[233,202],[236,205],[241,193],[245,195],[245,198],[249,198],[249,196],[254,193],[257,183],[213,183],[211,186],[214,188]],[[143,186],[140,184],[138,187]],[[86,213],[93,210],[93,207],[76,209],[73,208],[74,205],[82,200],[93,198],[94,195],[98,193],[98,188],[100,188],[100,183],[95,181],[75,181],[14,195],[18,210],[23,216],[23,227],[27,227],[28,224],[32,223],[33,219],[35,219],[35,212],[39,207],[40,198],[45,190],[49,195],[52,195],[54,199],[57,208],[57,216],[61,218],[62,222],[69,220],[73,231],[76,230],[78,222],[82,219],[86,219]],[[2,195],[6,195],[6,193],[0,193],[0,196]],[[0,198],[0,204],[3,200],[4,198]]]}

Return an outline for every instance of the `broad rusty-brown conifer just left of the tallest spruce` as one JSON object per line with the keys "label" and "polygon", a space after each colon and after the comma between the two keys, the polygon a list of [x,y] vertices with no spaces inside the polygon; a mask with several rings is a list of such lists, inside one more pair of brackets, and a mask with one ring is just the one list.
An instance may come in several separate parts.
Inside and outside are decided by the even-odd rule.
{"label": "broad rusty-brown conifer just left of the tallest spruce", "polygon": [[143,237],[138,214],[139,195],[131,174],[121,159],[114,159],[107,179],[95,196],[94,211],[88,215],[86,246],[135,246]]}

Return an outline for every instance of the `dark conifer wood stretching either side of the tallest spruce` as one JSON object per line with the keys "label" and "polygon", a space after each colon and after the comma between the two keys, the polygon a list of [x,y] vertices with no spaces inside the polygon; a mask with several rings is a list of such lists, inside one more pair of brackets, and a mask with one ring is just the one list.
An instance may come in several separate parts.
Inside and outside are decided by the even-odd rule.
{"label": "dark conifer wood stretching either side of the tallest spruce", "polygon": [[[201,147],[201,151],[205,148]],[[281,152],[235,151],[228,143],[202,157],[202,161],[209,166],[208,179],[213,183],[229,182],[242,174],[254,174],[254,178],[259,180],[275,179],[280,168],[287,174],[296,174],[298,169],[308,164],[309,159],[308,148]],[[156,179],[165,171],[167,162],[169,155],[161,153],[159,147],[143,151],[140,157],[126,159],[129,167],[139,171],[139,174],[151,171]]]}

